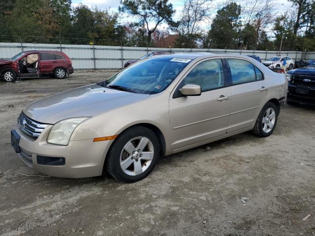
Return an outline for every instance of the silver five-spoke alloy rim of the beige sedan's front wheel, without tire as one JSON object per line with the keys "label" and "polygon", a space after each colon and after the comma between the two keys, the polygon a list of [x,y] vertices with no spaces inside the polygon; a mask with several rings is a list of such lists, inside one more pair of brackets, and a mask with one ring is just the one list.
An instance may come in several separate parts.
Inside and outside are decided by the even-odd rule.
{"label": "silver five-spoke alloy rim of the beige sedan's front wheel, without tire", "polygon": [[151,165],[154,147],[150,139],[139,136],[129,140],[120,155],[120,166],[125,174],[137,176]]}

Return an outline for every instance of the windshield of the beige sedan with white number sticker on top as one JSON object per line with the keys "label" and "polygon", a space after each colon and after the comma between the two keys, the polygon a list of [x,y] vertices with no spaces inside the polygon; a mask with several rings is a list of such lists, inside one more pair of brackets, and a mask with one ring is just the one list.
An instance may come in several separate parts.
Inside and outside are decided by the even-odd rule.
{"label": "windshield of the beige sedan with white number sticker on top", "polygon": [[172,57],[141,60],[109,78],[103,86],[136,93],[159,93],[170,85],[190,61]]}

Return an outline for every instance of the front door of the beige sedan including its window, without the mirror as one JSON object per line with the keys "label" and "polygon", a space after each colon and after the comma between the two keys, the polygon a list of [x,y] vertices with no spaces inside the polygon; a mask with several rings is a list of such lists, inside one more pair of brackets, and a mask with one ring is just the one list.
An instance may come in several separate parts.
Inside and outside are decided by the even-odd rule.
{"label": "front door of the beige sedan including its window, without the mirror", "polygon": [[[201,87],[200,96],[183,96],[184,85]],[[231,106],[227,69],[221,59],[206,59],[195,65],[169,100],[171,149],[176,150],[226,134]]]}

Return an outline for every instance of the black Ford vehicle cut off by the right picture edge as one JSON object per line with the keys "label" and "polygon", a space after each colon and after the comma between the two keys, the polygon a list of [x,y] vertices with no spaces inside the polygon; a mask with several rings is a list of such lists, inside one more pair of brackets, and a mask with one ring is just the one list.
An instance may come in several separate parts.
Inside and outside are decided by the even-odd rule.
{"label": "black Ford vehicle cut off by the right picture edge", "polygon": [[315,61],[305,67],[290,70],[288,78],[288,103],[308,103],[315,105]]}

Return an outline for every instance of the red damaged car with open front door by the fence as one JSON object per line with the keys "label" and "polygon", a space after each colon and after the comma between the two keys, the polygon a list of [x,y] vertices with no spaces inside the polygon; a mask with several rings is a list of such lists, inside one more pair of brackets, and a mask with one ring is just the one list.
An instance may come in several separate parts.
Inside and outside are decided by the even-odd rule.
{"label": "red damaged car with open front door by the fence", "polygon": [[70,58],[58,51],[26,51],[8,60],[0,59],[0,77],[6,82],[23,77],[64,79],[72,73]]}

